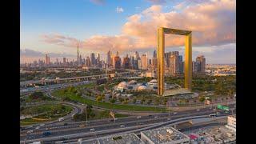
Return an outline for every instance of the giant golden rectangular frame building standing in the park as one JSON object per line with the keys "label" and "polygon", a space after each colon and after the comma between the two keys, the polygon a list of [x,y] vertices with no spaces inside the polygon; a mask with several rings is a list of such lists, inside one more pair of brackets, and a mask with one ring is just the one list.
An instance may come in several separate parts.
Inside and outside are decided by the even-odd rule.
{"label": "giant golden rectangular frame building standing in the park", "polygon": [[177,30],[165,27],[158,28],[158,95],[163,95],[164,85],[164,54],[165,54],[165,34],[185,35],[185,88],[191,90],[192,83],[192,31]]}

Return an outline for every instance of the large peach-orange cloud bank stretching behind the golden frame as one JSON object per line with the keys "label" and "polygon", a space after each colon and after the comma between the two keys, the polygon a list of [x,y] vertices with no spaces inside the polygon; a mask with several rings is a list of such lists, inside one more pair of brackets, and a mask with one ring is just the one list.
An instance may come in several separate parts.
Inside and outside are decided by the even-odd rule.
{"label": "large peach-orange cloud bank stretching behind the golden frame", "polygon": [[[235,43],[235,5],[234,0],[212,0],[186,5],[179,11],[167,12],[162,12],[162,6],[153,5],[127,18],[121,34],[94,35],[82,42],[82,48],[103,51],[110,48],[119,51],[156,48],[159,26],[192,30],[193,46],[222,46]],[[42,40],[59,46],[77,45],[75,38],[61,34],[45,34],[42,35]],[[184,37],[166,34],[166,47],[170,46],[184,46]]]}

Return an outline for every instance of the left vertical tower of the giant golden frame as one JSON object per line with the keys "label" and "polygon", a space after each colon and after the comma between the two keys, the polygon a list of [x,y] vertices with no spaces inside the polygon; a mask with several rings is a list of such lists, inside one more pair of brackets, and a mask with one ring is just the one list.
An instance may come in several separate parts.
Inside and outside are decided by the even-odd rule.
{"label": "left vertical tower of the giant golden frame", "polygon": [[165,89],[164,85],[164,54],[165,54],[165,36],[162,28],[158,28],[158,95],[162,95]]}

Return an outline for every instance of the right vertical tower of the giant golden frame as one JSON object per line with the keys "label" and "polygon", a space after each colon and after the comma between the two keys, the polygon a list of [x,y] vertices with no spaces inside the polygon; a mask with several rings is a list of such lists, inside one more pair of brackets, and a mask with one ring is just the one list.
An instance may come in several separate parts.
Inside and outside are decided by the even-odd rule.
{"label": "right vertical tower of the giant golden frame", "polygon": [[185,36],[185,88],[192,89],[192,34]]}

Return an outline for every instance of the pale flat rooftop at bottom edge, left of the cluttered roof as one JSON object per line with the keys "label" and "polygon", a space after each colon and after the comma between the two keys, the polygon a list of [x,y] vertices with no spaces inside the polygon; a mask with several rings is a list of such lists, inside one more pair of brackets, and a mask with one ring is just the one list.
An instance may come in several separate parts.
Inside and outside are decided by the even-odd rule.
{"label": "pale flat rooftop at bottom edge, left of the cluttered roof", "polygon": [[116,135],[110,135],[107,137],[92,139],[92,140],[86,140],[83,141],[82,144],[117,144],[117,143],[126,143],[126,144],[145,144],[141,141],[140,138],[134,133],[131,134],[116,134]]}

